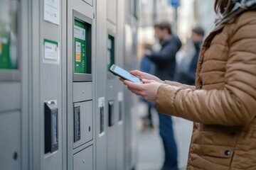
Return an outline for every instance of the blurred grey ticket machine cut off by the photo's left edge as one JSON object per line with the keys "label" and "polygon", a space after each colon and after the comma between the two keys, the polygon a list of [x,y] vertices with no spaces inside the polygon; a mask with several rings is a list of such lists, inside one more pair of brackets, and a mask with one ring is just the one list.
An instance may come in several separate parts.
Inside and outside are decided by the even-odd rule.
{"label": "blurred grey ticket machine cut off by the photo's left edge", "polygon": [[[25,4],[26,2],[23,2]],[[0,1],[0,165],[1,169],[21,169],[23,152],[21,134],[22,115],[22,65],[26,57],[21,53],[21,2]],[[26,23],[26,18],[23,18]],[[26,33],[23,36],[26,37]],[[27,45],[27,42],[24,42]],[[26,72],[24,70],[24,72]],[[22,127],[22,128],[21,128]],[[27,136],[25,136],[27,139]],[[22,148],[22,149],[21,149]],[[24,152],[25,153],[25,152]]]}

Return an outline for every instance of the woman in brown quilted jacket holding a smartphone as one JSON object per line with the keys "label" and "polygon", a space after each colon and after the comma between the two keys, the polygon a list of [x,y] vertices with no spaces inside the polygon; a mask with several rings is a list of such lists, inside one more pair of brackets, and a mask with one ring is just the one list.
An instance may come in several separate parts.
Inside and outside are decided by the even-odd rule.
{"label": "woman in brown quilted jacket holding a smartphone", "polygon": [[216,0],[223,18],[203,42],[196,86],[132,71],[121,79],[160,113],[192,120],[187,169],[256,169],[255,0]]}

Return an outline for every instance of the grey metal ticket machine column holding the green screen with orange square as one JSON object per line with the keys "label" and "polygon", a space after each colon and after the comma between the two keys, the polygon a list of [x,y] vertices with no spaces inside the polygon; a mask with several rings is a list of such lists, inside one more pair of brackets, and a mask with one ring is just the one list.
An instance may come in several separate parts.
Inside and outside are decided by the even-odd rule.
{"label": "grey metal ticket machine column holding the green screen with orange square", "polygon": [[68,1],[68,169],[93,169],[95,21],[93,1]]}

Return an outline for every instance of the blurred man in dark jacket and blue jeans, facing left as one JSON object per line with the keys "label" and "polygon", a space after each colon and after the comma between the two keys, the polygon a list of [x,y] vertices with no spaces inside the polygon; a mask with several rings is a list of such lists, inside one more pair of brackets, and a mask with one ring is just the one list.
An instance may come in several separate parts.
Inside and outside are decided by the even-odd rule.
{"label": "blurred man in dark jacket and blue jeans, facing left", "polygon": [[[176,52],[181,48],[181,40],[171,33],[171,24],[168,22],[154,25],[155,37],[161,43],[159,52],[146,51],[145,55],[154,62],[154,75],[159,79],[174,80],[176,69]],[[162,169],[178,169],[177,147],[174,139],[174,130],[171,117],[159,113],[159,132],[164,144],[165,161]]]}

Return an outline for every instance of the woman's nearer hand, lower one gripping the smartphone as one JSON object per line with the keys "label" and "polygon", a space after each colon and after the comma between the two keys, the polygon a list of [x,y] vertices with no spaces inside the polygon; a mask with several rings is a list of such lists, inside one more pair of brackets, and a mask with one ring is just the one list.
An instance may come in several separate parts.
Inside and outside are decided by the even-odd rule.
{"label": "woman's nearer hand, lower one gripping the smartphone", "polygon": [[124,85],[128,86],[128,90],[137,96],[142,96],[147,101],[156,101],[157,91],[161,83],[154,80],[142,79],[144,84],[133,83],[132,81],[120,79]]}

